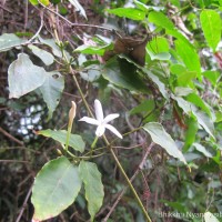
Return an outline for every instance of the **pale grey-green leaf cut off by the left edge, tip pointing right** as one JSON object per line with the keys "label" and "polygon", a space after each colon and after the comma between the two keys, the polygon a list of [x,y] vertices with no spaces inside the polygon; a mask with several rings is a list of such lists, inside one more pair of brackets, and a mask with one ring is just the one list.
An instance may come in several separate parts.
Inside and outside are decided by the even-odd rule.
{"label": "pale grey-green leaf cut off by the left edge, tip pointing right", "polygon": [[26,41],[13,33],[4,33],[0,36],[0,52],[8,51],[13,47],[20,47]]}

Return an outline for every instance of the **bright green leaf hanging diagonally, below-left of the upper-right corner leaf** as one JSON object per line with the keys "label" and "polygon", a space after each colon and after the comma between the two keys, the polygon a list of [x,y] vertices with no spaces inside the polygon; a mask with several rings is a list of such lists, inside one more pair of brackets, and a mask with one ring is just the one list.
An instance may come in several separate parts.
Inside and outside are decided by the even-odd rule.
{"label": "bright green leaf hanging diagonally, below-left of the upper-right corner leaf", "polygon": [[175,40],[175,49],[189,71],[195,71],[200,78],[201,73],[201,63],[199,54],[193,47],[188,46],[182,40]]}

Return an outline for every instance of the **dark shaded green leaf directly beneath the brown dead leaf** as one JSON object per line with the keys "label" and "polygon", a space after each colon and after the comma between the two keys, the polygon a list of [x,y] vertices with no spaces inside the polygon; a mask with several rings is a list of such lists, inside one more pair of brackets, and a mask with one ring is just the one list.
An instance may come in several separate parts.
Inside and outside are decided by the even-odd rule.
{"label": "dark shaded green leaf directly beneath the brown dead leaf", "polygon": [[125,59],[110,59],[102,69],[102,77],[111,83],[135,92],[149,92],[144,81],[137,73],[137,67]]}

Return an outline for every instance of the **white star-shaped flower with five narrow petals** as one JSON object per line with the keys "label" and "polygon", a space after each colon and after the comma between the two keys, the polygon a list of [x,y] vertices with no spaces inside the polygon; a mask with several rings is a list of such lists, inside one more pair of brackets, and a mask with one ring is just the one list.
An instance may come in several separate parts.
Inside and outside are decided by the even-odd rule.
{"label": "white star-shaped flower with five narrow petals", "polygon": [[87,123],[98,125],[97,131],[95,131],[97,137],[103,135],[105,128],[107,128],[108,130],[110,130],[115,135],[118,135],[119,138],[122,139],[122,135],[120,134],[120,132],[114,127],[112,127],[111,124],[108,124],[108,122],[114,120],[115,118],[119,118],[120,114],[113,113],[113,114],[109,114],[108,117],[104,118],[102,105],[101,105],[101,102],[99,100],[94,100],[94,112],[95,112],[97,119],[83,117],[79,121],[84,121]]}

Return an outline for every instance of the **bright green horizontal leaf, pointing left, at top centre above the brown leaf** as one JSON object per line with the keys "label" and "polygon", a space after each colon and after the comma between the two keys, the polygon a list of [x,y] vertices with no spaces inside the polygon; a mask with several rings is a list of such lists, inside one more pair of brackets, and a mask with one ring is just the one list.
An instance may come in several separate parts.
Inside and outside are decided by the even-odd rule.
{"label": "bright green horizontal leaf, pointing left, at top centre above the brown leaf", "polygon": [[132,20],[141,21],[145,19],[145,12],[134,8],[107,9],[107,11],[118,17],[125,17]]}

